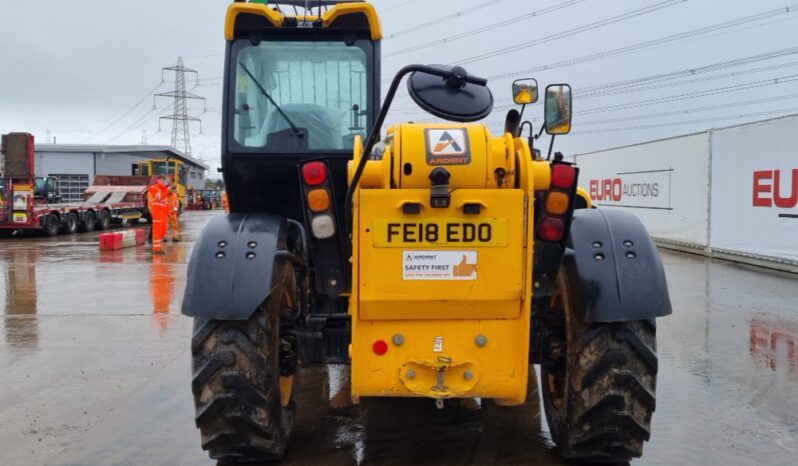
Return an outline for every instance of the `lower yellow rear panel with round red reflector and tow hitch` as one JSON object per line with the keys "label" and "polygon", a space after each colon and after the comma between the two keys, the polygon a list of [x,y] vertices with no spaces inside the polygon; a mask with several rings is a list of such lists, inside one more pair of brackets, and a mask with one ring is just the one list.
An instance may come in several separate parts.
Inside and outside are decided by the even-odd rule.
{"label": "lower yellow rear panel with round red reflector and tow hitch", "polygon": [[[527,312],[516,319],[359,321],[352,398],[498,398],[520,404],[529,368]],[[377,341],[387,343],[378,355]]]}

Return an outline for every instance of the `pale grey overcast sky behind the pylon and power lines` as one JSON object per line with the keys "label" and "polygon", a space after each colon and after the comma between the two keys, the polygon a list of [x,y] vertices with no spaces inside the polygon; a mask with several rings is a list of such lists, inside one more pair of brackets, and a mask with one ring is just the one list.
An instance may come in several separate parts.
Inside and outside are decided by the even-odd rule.
{"label": "pale grey overcast sky behind the pylon and power lines", "polygon": [[[574,134],[555,145],[566,154],[797,113],[793,2],[798,0],[373,1],[385,34],[383,79],[410,62],[466,61],[473,74],[507,75],[489,82],[496,110],[485,122],[495,133],[503,127],[513,79],[535,77],[541,87],[570,83]],[[2,3],[0,133],[32,132],[44,142],[49,129],[59,144],[138,144],[144,130],[150,144],[168,144],[170,122],[163,121],[159,132],[158,116],[170,113],[171,102],[151,95],[172,90],[170,75],[161,82],[161,68],[182,56],[199,72],[200,86],[191,92],[206,97],[208,106],[202,113],[201,105],[193,105],[192,113],[203,120],[202,134],[193,126],[194,155],[218,165],[228,1]],[[758,20],[730,23],[768,11]],[[458,37],[464,33],[470,35]],[[795,50],[776,58],[701,68],[790,48]],[[396,52],[403,53],[389,56]],[[687,73],[666,75],[681,71]],[[647,89],[618,84],[646,77],[657,78],[644,83]],[[613,85],[596,88],[606,84]],[[407,97],[394,108],[391,121],[430,118]],[[532,106],[526,115],[539,119],[542,108]],[[217,176],[215,169],[210,175]]]}

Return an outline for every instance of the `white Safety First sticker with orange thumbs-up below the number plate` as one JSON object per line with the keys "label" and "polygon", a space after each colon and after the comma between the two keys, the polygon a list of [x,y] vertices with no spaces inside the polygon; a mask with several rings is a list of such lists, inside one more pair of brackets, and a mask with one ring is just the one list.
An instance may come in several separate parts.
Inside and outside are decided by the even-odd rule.
{"label": "white Safety First sticker with orange thumbs-up below the number plate", "polygon": [[404,251],[404,280],[476,280],[476,251]]}

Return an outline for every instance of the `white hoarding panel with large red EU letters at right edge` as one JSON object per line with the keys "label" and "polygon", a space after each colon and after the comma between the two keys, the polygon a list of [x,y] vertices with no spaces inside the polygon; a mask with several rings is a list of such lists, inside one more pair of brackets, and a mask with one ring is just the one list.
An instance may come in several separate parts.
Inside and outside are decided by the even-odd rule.
{"label": "white hoarding panel with large red EU letters at right edge", "polygon": [[711,134],[712,248],[798,262],[798,116]]}

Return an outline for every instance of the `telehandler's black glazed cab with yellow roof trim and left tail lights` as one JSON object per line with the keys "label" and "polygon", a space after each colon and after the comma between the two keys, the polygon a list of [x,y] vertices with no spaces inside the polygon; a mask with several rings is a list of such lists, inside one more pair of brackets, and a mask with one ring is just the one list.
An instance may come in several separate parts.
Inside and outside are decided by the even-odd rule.
{"label": "telehandler's black glazed cab with yellow roof trim and left tail lights", "polygon": [[[365,2],[321,2],[319,14],[314,1],[304,16],[293,3],[306,2],[228,10],[222,169],[231,213],[274,214],[306,230],[325,328],[346,313],[347,163],[380,108],[382,29]],[[332,351],[313,358],[348,360],[348,341],[329,343]]]}

